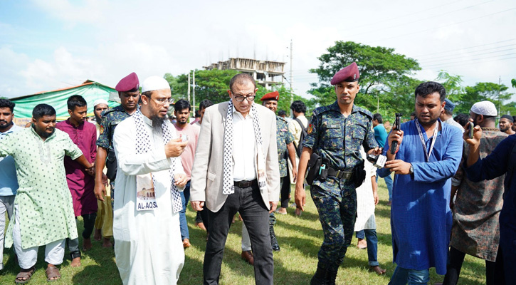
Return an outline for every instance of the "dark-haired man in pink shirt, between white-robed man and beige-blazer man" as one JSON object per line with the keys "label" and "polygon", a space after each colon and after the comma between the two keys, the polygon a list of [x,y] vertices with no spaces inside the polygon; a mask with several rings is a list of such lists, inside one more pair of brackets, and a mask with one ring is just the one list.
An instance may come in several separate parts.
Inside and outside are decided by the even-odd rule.
{"label": "dark-haired man in pink shirt, between white-robed man and beige-blazer man", "polygon": [[[181,200],[183,202],[183,209],[179,212],[179,224],[181,226],[181,239],[183,239],[183,247],[190,247],[190,236],[188,232],[188,224],[186,224],[186,205],[190,199],[190,179],[191,167],[194,165],[195,148],[197,146],[197,138],[199,138],[199,131],[201,128],[197,125],[190,125],[188,120],[190,118],[190,103],[187,100],[179,100],[174,105],[174,116],[177,122],[174,124],[176,132],[183,139],[188,139],[188,145],[184,148],[181,154],[181,162],[183,164],[184,173],[188,179],[184,191],[181,192]],[[186,138],[185,138],[186,137]]]}

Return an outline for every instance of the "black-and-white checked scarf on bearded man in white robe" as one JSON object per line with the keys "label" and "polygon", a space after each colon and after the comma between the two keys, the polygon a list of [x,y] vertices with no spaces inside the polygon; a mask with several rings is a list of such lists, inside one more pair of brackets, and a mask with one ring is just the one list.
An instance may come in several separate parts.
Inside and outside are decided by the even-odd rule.
{"label": "black-and-white checked scarf on bearded man in white robe", "polygon": [[[149,134],[147,132],[147,129],[144,126],[143,121],[143,114],[138,109],[135,113],[135,115],[132,115],[132,118],[135,119],[136,124],[136,153],[147,153],[151,149],[151,144],[149,140]],[[167,125],[167,122],[163,122],[162,124],[162,130],[163,130],[163,142],[166,144],[169,142],[169,140],[172,140],[172,133],[170,133],[169,126]],[[170,190],[172,191],[172,210],[174,213],[178,213],[183,209],[183,204],[181,202],[181,194],[179,193],[179,190],[177,190],[177,187],[175,185],[174,180],[174,173],[176,172],[176,161],[179,160],[179,157],[171,157],[172,158],[172,168],[169,170],[170,175],[170,181],[172,182],[172,185],[170,187]],[[154,175],[152,175],[152,184],[156,185],[156,182],[154,181]]]}

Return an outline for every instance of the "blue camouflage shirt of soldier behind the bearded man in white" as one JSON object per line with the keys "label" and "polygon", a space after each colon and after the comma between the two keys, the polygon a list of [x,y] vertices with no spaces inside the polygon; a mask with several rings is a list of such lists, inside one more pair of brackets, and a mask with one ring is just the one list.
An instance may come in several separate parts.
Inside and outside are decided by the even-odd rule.
{"label": "blue camouflage shirt of soldier behind the bearded man in white", "polygon": [[122,105],[117,105],[115,108],[107,109],[102,112],[102,121],[100,122],[99,137],[97,139],[97,145],[104,147],[106,150],[114,153],[113,148],[113,134],[117,125],[130,117]]}

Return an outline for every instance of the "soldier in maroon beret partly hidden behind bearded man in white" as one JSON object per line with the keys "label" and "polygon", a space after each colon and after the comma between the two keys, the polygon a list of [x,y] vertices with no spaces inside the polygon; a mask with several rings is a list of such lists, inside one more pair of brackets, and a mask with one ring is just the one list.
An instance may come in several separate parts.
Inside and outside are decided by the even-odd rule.
{"label": "soldier in maroon beret partly hidden behind bearded man in white", "polygon": [[[107,109],[102,112],[100,122],[100,135],[97,139],[97,157],[95,158],[95,197],[104,201],[105,185],[102,183],[102,170],[107,164],[107,176],[111,186],[111,206],[115,197],[115,176],[116,176],[116,157],[113,148],[113,134],[116,126],[130,115],[134,114],[138,108],[139,100],[139,81],[136,73],[122,78],[115,89],[120,97],[120,105],[115,108]],[[106,162],[110,160],[111,163]],[[110,173],[114,173],[115,176]]]}

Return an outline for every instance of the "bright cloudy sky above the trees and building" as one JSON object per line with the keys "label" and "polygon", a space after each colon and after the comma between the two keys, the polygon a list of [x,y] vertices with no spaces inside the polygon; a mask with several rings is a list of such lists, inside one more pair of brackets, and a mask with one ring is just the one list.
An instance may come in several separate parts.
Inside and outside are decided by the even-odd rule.
{"label": "bright cloudy sky above the trees and building", "polygon": [[[308,96],[308,73],[335,41],[395,48],[434,79],[464,85],[516,78],[514,0],[434,1],[0,1],[0,96],[115,86],[135,71],[177,75],[229,57],[285,61]],[[512,92],[516,90],[513,88]]]}

